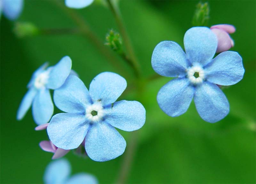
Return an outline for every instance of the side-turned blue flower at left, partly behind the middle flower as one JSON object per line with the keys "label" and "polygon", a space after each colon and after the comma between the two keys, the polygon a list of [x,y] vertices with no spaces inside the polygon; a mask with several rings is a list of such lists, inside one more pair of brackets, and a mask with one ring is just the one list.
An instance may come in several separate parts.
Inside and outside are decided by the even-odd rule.
{"label": "side-turned blue flower at left, partly behind the middle flower", "polygon": [[28,83],[28,92],[23,97],[17,113],[22,119],[32,104],[33,118],[37,125],[47,123],[53,114],[53,103],[49,89],[57,89],[67,79],[71,70],[71,59],[63,57],[55,66],[47,67],[47,63],[38,68]]}

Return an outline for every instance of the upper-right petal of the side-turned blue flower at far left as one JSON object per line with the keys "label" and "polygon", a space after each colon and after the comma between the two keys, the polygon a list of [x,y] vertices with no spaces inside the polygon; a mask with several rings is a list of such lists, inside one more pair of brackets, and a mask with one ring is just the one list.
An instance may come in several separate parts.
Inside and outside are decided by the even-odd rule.
{"label": "upper-right petal of the side-turned blue flower at far left", "polygon": [[65,56],[53,66],[49,79],[47,82],[47,88],[57,89],[62,86],[62,84],[66,81],[70,71],[71,71],[72,61],[70,57]]}

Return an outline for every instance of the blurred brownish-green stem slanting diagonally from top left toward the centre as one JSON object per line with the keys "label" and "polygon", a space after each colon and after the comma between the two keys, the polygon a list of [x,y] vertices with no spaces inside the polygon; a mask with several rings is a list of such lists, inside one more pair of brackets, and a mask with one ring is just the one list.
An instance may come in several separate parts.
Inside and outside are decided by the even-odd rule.
{"label": "blurred brownish-green stem slanting diagonally from top left toward the centre", "polygon": [[111,65],[116,66],[116,68],[127,75],[127,71],[120,65],[117,57],[114,56],[114,53],[104,46],[103,42],[98,38],[98,36],[91,30],[91,28],[87,25],[84,19],[79,16],[76,11],[73,9],[67,8],[62,1],[51,1],[56,3],[79,27],[79,31],[83,34],[87,39],[89,39],[92,44],[96,46],[100,50],[100,52],[107,57],[108,61]]}

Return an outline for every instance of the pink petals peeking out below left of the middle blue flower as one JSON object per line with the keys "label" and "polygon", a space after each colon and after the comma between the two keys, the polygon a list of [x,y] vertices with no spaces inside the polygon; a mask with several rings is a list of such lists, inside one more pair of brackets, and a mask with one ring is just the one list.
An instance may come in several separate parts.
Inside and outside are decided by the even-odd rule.
{"label": "pink petals peeking out below left of the middle blue flower", "polygon": [[[35,128],[35,130],[45,130],[49,123],[45,123],[42,125],[39,125]],[[41,141],[39,143],[39,146],[42,150],[54,153],[52,156],[52,159],[58,159],[60,157],[65,156],[70,150],[63,150],[61,148],[56,147],[51,141]]]}

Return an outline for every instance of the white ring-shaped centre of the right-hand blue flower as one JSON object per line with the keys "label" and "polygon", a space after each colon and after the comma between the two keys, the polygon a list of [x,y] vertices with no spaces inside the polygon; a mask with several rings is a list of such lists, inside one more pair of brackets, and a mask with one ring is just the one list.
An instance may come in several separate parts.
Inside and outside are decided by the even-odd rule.
{"label": "white ring-shaped centre of the right-hand blue flower", "polygon": [[189,81],[193,84],[200,84],[204,80],[204,69],[200,66],[192,66],[187,74]]}

